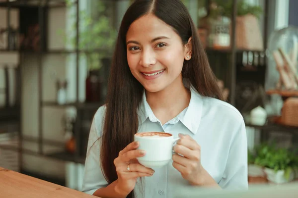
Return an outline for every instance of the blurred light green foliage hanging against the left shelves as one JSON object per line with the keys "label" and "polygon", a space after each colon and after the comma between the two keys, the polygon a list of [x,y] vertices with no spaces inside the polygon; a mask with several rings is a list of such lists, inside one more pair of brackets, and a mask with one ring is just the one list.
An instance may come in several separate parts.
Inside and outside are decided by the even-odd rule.
{"label": "blurred light green foliage hanging against the left shelves", "polygon": [[[86,11],[79,12],[79,43],[78,49],[82,51],[80,54],[87,60],[89,69],[99,69],[101,67],[100,59],[103,57],[111,57],[114,47],[117,31],[111,25],[110,13],[113,7],[105,1],[96,2],[95,14]],[[74,5],[73,0],[67,0],[69,9]],[[94,9],[94,8],[93,8]],[[75,18],[73,14],[72,18]],[[71,25],[70,32],[60,31],[64,35],[65,42],[71,46],[76,46],[76,23]]]}

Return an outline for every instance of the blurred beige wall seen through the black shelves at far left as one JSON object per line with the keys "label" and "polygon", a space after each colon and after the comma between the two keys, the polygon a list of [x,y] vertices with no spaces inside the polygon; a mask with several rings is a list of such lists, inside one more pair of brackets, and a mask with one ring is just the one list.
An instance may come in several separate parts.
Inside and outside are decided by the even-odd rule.
{"label": "blurred beige wall seen through the black shelves at far left", "polygon": [[[66,9],[55,8],[49,10],[48,18],[48,45],[49,49],[63,49],[64,43],[58,36],[59,29],[65,29]],[[42,100],[56,101],[56,79],[53,76],[55,71],[57,78],[66,76],[67,55],[44,54],[41,62],[42,67]],[[36,54],[23,53],[23,97],[22,97],[22,130],[24,136],[38,137],[39,134],[39,114],[38,114],[38,71],[39,59]],[[43,107],[42,108],[42,126],[43,137],[47,140],[63,142],[64,131],[62,128],[62,118],[65,114],[63,108]],[[23,148],[38,152],[38,144],[24,141]],[[48,153],[61,148],[44,145],[44,152]],[[46,157],[23,155],[23,168],[41,175],[50,175],[58,178],[64,178],[65,163]]]}

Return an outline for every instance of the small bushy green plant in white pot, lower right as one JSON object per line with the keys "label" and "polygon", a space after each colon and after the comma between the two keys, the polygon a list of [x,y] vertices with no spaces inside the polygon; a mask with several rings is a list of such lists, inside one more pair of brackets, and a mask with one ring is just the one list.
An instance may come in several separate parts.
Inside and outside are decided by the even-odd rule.
{"label": "small bushy green plant in white pot, lower right", "polygon": [[270,182],[282,184],[295,179],[297,157],[289,149],[263,145],[259,148],[255,164],[265,167],[264,171]]}

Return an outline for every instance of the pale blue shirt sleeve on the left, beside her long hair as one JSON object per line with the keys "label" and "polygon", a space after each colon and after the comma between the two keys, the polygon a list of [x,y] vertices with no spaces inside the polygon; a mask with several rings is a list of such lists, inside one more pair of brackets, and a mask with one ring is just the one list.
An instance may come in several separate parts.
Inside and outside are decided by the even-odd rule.
{"label": "pale blue shirt sleeve on the left, beside her long hair", "polygon": [[82,192],[93,195],[108,182],[103,176],[100,164],[100,146],[104,107],[100,107],[94,115],[87,146],[86,161],[83,174]]}

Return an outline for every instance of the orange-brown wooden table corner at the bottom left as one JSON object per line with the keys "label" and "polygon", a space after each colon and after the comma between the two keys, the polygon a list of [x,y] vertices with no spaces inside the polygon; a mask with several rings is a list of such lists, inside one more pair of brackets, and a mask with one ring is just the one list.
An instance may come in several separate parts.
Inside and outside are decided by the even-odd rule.
{"label": "orange-brown wooden table corner at the bottom left", "polygon": [[95,198],[0,167],[0,198]]}

